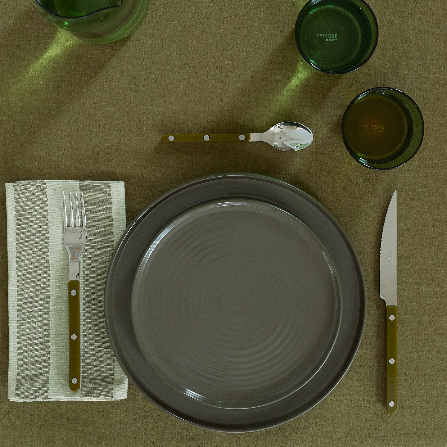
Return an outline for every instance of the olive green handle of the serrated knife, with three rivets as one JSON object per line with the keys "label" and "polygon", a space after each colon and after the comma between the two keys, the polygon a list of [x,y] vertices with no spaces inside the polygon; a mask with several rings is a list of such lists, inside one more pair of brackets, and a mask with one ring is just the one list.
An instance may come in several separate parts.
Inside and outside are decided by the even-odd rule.
{"label": "olive green handle of the serrated knife, with three rivets", "polygon": [[397,306],[387,306],[387,383],[385,406],[388,414],[397,410]]}

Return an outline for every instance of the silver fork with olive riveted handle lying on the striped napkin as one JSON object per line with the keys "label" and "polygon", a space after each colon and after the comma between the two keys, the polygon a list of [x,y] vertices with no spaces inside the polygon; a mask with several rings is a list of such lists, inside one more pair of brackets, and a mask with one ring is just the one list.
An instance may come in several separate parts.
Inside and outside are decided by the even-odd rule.
{"label": "silver fork with olive riveted handle lying on the striped napkin", "polygon": [[68,369],[70,389],[80,388],[80,270],[79,260],[87,241],[87,223],[85,219],[84,194],[81,191],[82,225],[79,218],[78,193],[75,191],[76,222],[73,217],[72,192],[69,191],[70,225],[67,225],[67,207],[65,191],[63,196],[63,243],[68,253]]}

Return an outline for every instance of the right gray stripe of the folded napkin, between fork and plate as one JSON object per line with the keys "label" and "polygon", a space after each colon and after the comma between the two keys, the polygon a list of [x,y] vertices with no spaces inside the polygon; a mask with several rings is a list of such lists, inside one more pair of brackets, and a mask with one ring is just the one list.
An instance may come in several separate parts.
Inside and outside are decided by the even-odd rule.
{"label": "right gray stripe of the folded napkin, between fork and plate", "polygon": [[104,319],[105,276],[115,249],[112,190],[110,183],[80,181],[79,187],[88,215],[87,244],[82,251],[81,396],[112,399],[115,357]]}

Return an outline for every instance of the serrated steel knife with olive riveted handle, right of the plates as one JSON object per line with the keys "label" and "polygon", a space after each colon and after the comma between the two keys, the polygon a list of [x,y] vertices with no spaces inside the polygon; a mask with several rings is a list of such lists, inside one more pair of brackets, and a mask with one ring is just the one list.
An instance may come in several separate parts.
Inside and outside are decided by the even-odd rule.
{"label": "serrated steel knife with olive riveted handle, right of the plates", "polygon": [[380,244],[380,298],[387,305],[386,389],[388,414],[397,409],[397,192],[385,216]]}

